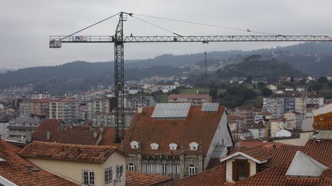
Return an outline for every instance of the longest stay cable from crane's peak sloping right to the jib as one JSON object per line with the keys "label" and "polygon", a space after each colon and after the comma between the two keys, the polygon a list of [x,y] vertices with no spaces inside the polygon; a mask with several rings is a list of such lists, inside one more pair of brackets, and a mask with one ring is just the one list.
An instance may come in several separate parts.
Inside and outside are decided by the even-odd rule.
{"label": "longest stay cable from crane's peak sloping right to the jib", "polygon": [[190,23],[190,24],[204,25],[204,26],[210,26],[210,27],[216,27],[216,28],[225,28],[225,29],[230,29],[230,30],[238,30],[238,31],[242,31],[242,32],[252,32],[252,33],[257,33],[257,34],[276,35],[276,34],[267,33],[267,32],[258,32],[258,31],[255,31],[255,30],[241,29],[241,28],[231,28],[231,27],[226,27],[226,26],[221,26],[221,25],[212,25],[212,24],[208,24],[208,23],[197,23],[197,22],[193,22],[193,21],[184,21],[184,20],[179,20],[179,19],[156,17],[156,16],[145,15],[145,14],[136,14],[136,15],[142,16],[142,17],[151,17],[151,18],[155,18],[155,19],[164,19],[164,20],[167,20],[167,21],[177,21],[177,22],[181,22],[181,23]]}

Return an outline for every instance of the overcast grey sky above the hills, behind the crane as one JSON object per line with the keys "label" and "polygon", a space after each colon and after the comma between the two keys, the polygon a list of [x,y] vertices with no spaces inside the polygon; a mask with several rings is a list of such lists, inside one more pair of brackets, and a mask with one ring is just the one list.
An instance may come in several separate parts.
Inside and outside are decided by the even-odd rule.
{"label": "overcast grey sky above the hills, behind the crane", "polygon": [[[48,48],[50,35],[71,34],[116,14],[133,12],[171,19],[211,23],[275,34],[332,35],[331,0],[147,0],[147,1],[1,1],[0,68],[60,65],[69,61],[111,61],[111,43],[63,43]],[[183,35],[248,34],[172,21],[140,17]],[[113,35],[118,17],[85,30],[81,35]],[[124,34],[168,35],[129,17]],[[250,33],[249,33],[250,34]],[[147,59],[160,54],[190,54],[219,50],[251,50],[293,43],[127,43],[125,59]]]}

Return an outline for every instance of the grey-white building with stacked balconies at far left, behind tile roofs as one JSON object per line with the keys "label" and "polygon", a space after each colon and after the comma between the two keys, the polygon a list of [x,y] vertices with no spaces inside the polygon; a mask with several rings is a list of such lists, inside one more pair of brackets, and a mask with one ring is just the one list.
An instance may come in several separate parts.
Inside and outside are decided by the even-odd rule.
{"label": "grey-white building with stacked balconies at far left, behind tile roofs", "polygon": [[12,119],[7,126],[7,139],[12,141],[26,142],[43,118],[39,116],[22,116]]}

